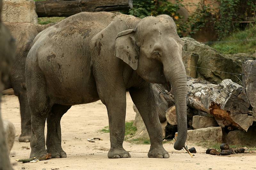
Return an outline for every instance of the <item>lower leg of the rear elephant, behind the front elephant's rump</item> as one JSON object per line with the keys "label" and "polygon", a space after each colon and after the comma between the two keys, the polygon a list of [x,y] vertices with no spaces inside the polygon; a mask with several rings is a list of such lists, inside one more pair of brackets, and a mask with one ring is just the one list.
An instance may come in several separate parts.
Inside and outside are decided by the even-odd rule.
{"label": "lower leg of the rear elephant, behind the front elephant's rump", "polygon": [[20,90],[18,97],[20,102],[21,118],[21,134],[19,137],[19,142],[29,142],[31,136],[31,114],[28,105],[27,90]]}

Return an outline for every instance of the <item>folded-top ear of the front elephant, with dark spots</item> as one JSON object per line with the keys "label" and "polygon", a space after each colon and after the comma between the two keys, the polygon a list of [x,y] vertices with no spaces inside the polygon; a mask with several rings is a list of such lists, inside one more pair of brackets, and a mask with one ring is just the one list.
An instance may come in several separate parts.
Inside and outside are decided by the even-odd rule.
{"label": "folded-top ear of the front elephant, with dark spots", "polygon": [[134,31],[132,29],[125,30],[117,34],[115,55],[121,58],[125,63],[129,64],[133,70],[138,67],[138,54],[133,42]]}

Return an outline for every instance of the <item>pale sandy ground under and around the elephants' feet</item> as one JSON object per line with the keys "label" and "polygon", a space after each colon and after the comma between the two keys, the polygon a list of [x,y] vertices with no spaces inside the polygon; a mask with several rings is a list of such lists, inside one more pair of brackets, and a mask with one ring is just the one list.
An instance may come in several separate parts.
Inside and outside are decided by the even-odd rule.
{"label": "pale sandy ground under and around the elephants' feet", "polygon": [[[169,159],[148,158],[150,145],[138,145],[124,142],[124,149],[130,152],[132,158],[108,159],[110,147],[109,133],[99,130],[108,126],[106,107],[100,102],[72,106],[61,119],[62,148],[67,158],[49,159],[37,163],[16,163],[15,159],[28,158],[29,143],[20,143],[19,101],[14,95],[3,96],[1,103],[3,119],[13,122],[16,128],[16,139],[10,153],[11,163],[16,170],[20,169],[256,169],[256,154],[236,154],[232,156],[206,155],[205,148],[196,146],[197,153],[191,158],[184,151],[176,151],[173,144],[166,143],[164,148],[170,153]],[[126,121],[135,117],[132,100],[127,93]],[[46,128],[45,128],[46,136]],[[102,141],[90,143],[86,139],[100,137]],[[188,147],[193,144],[188,144]],[[14,157],[12,157],[14,156]]]}

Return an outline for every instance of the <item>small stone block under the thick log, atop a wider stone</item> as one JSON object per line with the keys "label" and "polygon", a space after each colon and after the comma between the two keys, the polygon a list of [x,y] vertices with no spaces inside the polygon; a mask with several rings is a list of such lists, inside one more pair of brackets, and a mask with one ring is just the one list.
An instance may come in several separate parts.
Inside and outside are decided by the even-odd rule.
{"label": "small stone block under the thick log, atop a wider stone", "polygon": [[213,117],[193,116],[192,127],[194,129],[208,128],[210,126],[219,126]]}

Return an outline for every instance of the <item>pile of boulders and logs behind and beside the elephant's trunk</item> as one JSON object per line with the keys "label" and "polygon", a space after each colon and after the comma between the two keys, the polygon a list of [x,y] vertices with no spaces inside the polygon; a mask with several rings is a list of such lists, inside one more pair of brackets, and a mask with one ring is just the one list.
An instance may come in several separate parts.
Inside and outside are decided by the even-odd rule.
{"label": "pile of boulders and logs behind and beside the elephant's trunk", "polygon": [[[256,75],[256,61],[251,60],[255,56],[244,53],[224,55],[192,38],[182,39],[185,41],[182,58],[189,76],[188,86],[194,85],[188,87],[187,141],[255,145],[256,93],[253,90],[256,89],[256,77],[253,75]],[[168,89],[158,84],[154,84],[153,89],[157,103],[163,104],[161,110],[157,105],[163,138],[172,139],[177,132],[172,91],[169,93]],[[216,99],[214,90],[221,97],[226,95],[223,101],[220,97]],[[134,125],[138,129],[133,138],[148,138],[135,105],[133,108],[136,112]]]}

